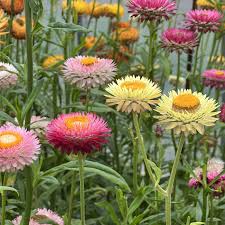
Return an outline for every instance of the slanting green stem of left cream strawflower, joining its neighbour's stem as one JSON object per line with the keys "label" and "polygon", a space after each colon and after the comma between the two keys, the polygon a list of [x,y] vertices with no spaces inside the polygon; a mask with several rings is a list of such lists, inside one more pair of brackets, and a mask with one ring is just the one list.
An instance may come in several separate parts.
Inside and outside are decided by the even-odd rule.
{"label": "slanting green stem of left cream strawflower, joining its neighbour's stem", "polygon": [[143,137],[141,135],[141,131],[140,131],[140,127],[139,127],[139,122],[138,122],[138,116],[136,113],[133,113],[133,122],[134,122],[134,127],[136,130],[136,134],[137,134],[137,138],[138,138],[138,142],[140,145],[140,149],[141,149],[141,153],[144,159],[144,163],[145,166],[147,168],[149,177],[151,179],[151,181],[153,182],[153,184],[155,185],[155,188],[157,189],[158,192],[160,192],[162,195],[167,196],[167,192],[156,182],[156,178],[153,174],[152,168],[149,165],[149,160],[145,151],[145,145],[144,145],[144,141],[143,141]]}

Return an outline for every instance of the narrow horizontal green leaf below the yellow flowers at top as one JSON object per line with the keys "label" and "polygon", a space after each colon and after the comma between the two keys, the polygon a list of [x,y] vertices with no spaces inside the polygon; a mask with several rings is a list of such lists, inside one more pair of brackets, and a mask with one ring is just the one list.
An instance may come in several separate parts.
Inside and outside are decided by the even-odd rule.
{"label": "narrow horizontal green leaf below the yellow flowers at top", "polygon": [[50,28],[53,30],[61,30],[64,32],[84,32],[84,33],[88,32],[88,30],[85,27],[76,25],[74,23],[53,22],[53,23],[49,23],[47,26],[44,26],[44,27]]}

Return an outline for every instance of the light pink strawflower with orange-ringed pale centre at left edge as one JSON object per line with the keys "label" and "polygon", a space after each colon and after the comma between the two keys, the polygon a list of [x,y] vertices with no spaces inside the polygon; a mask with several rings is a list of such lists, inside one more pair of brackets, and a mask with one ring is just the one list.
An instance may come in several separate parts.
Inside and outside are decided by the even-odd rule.
{"label": "light pink strawflower with orange-ringed pale centre at left edge", "polygon": [[40,144],[32,131],[14,125],[0,127],[0,171],[13,172],[33,163]]}

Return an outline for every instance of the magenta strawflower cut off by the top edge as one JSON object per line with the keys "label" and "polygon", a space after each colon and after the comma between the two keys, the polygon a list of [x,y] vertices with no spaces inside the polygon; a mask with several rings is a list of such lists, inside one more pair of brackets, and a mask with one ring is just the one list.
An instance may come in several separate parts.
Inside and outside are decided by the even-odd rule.
{"label": "magenta strawflower cut off by the top edge", "polygon": [[175,14],[176,2],[170,0],[129,0],[128,12],[139,21],[160,22]]}

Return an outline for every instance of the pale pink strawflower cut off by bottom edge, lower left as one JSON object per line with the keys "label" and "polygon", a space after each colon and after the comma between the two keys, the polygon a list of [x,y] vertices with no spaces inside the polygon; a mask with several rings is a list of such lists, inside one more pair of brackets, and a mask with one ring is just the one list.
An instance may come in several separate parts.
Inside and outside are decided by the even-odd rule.
{"label": "pale pink strawflower cut off by bottom edge, lower left", "polygon": [[[12,223],[13,225],[20,225],[21,220],[22,216],[18,216]],[[49,223],[43,223],[45,220],[49,220]],[[52,222],[56,225],[64,225],[63,219],[55,212],[50,209],[38,209],[31,217],[29,225],[48,225],[52,224]]]}

